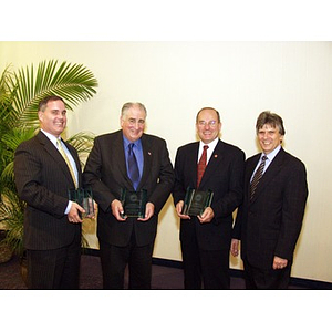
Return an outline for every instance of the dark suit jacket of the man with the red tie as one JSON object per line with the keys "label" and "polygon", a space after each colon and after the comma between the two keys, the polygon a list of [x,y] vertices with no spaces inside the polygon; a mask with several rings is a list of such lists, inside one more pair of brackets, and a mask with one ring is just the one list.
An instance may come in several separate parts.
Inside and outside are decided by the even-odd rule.
{"label": "dark suit jacket of the man with the red tie", "polygon": [[[173,191],[175,205],[179,200],[185,200],[188,187],[196,188],[198,148],[199,142],[195,142],[177,151]],[[229,250],[232,212],[242,201],[243,169],[245,153],[219,139],[198,188],[214,191],[211,208],[215,218],[208,224],[200,224],[196,217],[191,217],[191,220],[181,220],[180,240],[183,242],[193,231],[196,231],[200,249]]]}

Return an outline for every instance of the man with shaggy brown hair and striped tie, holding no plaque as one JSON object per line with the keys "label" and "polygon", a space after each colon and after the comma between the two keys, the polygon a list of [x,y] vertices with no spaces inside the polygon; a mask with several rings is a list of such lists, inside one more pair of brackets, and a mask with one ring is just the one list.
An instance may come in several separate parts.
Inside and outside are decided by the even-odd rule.
{"label": "man with shaggy brown hair and striped tie, holding no plaque", "polygon": [[247,289],[287,289],[308,197],[305,167],[281,147],[279,115],[262,112],[256,132],[262,153],[246,162],[231,253],[240,239]]}

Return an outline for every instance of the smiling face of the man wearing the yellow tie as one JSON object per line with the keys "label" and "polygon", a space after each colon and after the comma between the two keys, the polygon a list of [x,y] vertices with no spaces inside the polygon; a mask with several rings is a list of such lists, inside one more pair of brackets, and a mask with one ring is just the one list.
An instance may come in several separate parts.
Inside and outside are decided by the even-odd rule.
{"label": "smiling face of the man wearing the yellow tie", "polygon": [[62,101],[50,101],[44,112],[39,111],[41,128],[56,137],[66,126],[66,110]]}

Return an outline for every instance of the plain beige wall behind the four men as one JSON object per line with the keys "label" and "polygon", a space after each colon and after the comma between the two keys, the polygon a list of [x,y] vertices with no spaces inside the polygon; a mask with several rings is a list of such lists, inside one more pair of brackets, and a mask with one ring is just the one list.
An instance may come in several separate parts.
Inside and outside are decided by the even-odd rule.
{"label": "plain beige wall behind the four men", "polygon": [[[118,128],[121,106],[143,102],[147,133],[164,137],[174,162],[196,139],[195,115],[219,110],[222,139],[258,152],[255,123],[263,110],[283,117],[284,148],[307,165],[309,200],[293,277],[332,282],[332,43],[331,42],[0,42],[0,69],[42,60],[83,63],[97,94],[70,115],[69,135]],[[90,242],[97,247],[95,226]],[[180,260],[172,199],[162,211],[154,256]],[[240,259],[231,259],[241,268]]]}

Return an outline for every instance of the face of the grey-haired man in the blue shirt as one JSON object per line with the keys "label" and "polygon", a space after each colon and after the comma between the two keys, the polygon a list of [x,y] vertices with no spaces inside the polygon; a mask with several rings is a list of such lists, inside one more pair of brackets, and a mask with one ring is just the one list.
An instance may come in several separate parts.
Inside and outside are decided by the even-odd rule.
{"label": "face of the grey-haired man in the blue shirt", "polygon": [[145,129],[146,113],[138,106],[133,106],[121,117],[123,134],[131,142],[139,139]]}

